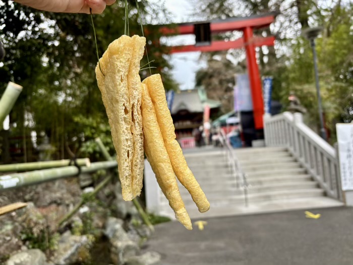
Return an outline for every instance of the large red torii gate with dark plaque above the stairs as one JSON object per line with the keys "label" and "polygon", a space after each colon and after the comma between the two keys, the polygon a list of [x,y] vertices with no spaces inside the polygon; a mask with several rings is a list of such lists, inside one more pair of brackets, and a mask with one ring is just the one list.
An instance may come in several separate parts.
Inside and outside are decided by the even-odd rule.
{"label": "large red torii gate with dark plaque above the stairs", "polygon": [[264,104],[262,99],[262,86],[259,67],[256,62],[255,47],[262,45],[273,46],[275,37],[255,37],[253,35],[253,31],[254,29],[268,27],[272,22],[274,22],[276,15],[277,13],[268,13],[264,15],[255,15],[250,17],[212,20],[210,22],[182,23],[178,24],[176,28],[162,27],[160,31],[164,34],[196,34],[196,27],[202,24],[209,24],[210,34],[233,30],[243,31],[243,37],[234,41],[217,40],[211,41],[210,43],[208,43],[208,45],[200,44],[174,46],[171,48],[171,53],[188,51],[207,52],[217,50],[228,50],[234,48],[238,49],[245,47],[253,101],[255,129],[263,129],[262,117],[264,114]]}

